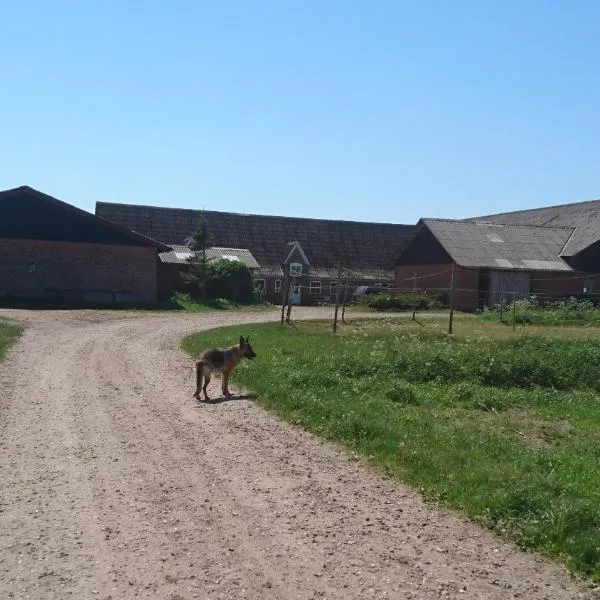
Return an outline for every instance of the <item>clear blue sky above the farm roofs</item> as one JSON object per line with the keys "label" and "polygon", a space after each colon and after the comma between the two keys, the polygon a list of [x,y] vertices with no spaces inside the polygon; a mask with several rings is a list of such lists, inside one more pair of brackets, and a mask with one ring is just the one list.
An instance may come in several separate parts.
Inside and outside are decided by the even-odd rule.
{"label": "clear blue sky above the farm roofs", "polygon": [[22,0],[0,23],[0,189],[393,223],[600,197],[596,0]]}

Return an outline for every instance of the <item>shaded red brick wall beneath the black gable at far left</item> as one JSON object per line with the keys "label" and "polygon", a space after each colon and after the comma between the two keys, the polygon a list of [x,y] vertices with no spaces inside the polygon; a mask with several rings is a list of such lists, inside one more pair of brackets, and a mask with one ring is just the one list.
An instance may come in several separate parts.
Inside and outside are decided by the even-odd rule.
{"label": "shaded red brick wall beneath the black gable at far left", "polygon": [[0,294],[40,298],[49,289],[116,291],[118,299],[155,302],[157,260],[154,248],[143,246],[0,239]]}

